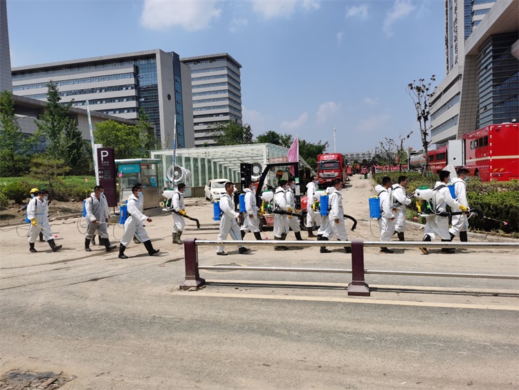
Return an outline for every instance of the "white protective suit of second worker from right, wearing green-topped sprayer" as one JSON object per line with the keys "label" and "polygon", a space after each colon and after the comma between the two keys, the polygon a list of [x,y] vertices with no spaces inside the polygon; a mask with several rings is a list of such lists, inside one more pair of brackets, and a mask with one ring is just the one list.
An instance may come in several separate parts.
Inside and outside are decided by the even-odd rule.
{"label": "white protective suit of second worker from right, wearing green-topped sprayer", "polygon": [[[459,208],[459,203],[450,196],[450,191],[445,183],[437,181],[432,192],[432,204],[436,207],[433,211],[446,212],[447,205],[449,205],[453,210]],[[448,234],[448,216],[439,216],[435,214],[426,216],[424,236],[426,235],[430,236],[431,241],[434,240],[436,236],[439,236],[442,240],[450,240],[450,234]]]}

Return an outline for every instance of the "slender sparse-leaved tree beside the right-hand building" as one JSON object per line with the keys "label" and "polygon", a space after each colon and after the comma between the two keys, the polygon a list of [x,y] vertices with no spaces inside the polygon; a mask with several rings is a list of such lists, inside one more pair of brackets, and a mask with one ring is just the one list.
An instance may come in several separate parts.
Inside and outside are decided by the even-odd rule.
{"label": "slender sparse-leaved tree beside the right-hand building", "polygon": [[[430,141],[429,138],[429,115],[430,115],[430,99],[434,95],[434,91],[430,92],[432,83],[436,81],[435,75],[430,77],[430,81],[426,83],[426,80],[419,79],[418,81],[412,80],[412,83],[408,84],[408,94],[410,95],[412,102],[415,103],[415,110],[417,111],[417,122],[420,126],[421,146],[424,148],[424,153],[427,156]],[[426,158],[426,164],[424,165],[424,175],[427,174],[429,169],[429,162]]]}

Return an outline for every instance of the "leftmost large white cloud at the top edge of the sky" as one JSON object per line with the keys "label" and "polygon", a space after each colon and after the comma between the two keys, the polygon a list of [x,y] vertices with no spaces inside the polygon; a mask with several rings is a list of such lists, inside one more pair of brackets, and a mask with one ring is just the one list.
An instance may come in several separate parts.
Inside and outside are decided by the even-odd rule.
{"label": "leftmost large white cloud at the top edge of the sky", "polygon": [[140,24],[150,30],[166,30],[174,26],[188,31],[203,30],[220,16],[219,3],[217,0],[144,0]]}

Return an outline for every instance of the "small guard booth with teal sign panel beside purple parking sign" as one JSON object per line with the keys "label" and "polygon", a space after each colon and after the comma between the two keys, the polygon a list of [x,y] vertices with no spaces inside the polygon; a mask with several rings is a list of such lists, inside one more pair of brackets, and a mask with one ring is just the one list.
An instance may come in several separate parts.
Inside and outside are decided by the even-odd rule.
{"label": "small guard booth with teal sign panel beside purple parking sign", "polygon": [[159,198],[158,171],[161,169],[162,160],[156,158],[128,158],[116,160],[119,176],[119,199],[124,205],[131,195],[131,187],[136,183],[143,185],[144,208],[158,207]]}

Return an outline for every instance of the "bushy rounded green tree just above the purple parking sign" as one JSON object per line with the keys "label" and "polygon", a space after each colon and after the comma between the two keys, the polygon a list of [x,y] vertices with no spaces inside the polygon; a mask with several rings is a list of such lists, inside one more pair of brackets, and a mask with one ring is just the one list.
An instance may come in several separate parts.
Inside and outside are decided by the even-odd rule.
{"label": "bushy rounded green tree just above the purple parking sign", "polygon": [[116,158],[145,158],[146,151],[143,149],[147,138],[147,133],[143,133],[138,126],[129,126],[105,120],[96,123],[93,131],[95,142],[104,147],[113,148]]}

